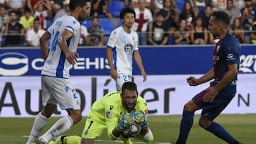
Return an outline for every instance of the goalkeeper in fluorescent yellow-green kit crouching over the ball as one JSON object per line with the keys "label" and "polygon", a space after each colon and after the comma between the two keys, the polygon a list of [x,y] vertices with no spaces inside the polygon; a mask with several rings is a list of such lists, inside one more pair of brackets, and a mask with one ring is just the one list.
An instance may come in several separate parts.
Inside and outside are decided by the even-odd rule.
{"label": "goalkeeper in fluorescent yellow-green kit crouching over the ball", "polygon": [[92,104],[81,137],[60,136],[49,144],[57,144],[58,141],[71,144],[69,140],[73,141],[72,144],[76,144],[75,141],[77,144],[92,144],[105,129],[110,140],[121,138],[124,144],[132,144],[132,140],[124,138],[121,133],[134,121],[142,127],[139,135],[134,138],[152,142],[154,136],[146,119],[147,111],[146,101],[138,95],[137,85],[134,82],[124,82],[122,92],[110,92]]}

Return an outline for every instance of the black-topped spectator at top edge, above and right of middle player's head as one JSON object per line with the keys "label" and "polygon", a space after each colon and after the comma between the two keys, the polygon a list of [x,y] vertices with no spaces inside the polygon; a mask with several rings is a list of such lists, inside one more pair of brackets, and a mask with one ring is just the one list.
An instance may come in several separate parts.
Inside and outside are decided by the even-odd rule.
{"label": "black-topped spectator at top edge, above and right of middle player's head", "polygon": [[178,9],[172,8],[171,1],[172,0],[164,0],[164,8],[160,10],[164,16],[164,26],[168,28],[169,36],[173,36],[174,30],[176,26],[178,26]]}

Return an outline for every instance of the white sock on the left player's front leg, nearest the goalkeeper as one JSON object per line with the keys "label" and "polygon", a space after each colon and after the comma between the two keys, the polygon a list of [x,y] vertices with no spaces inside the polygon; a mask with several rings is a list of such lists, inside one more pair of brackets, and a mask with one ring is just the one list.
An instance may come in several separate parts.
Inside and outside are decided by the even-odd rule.
{"label": "white sock on the left player's front leg, nearest the goalkeeper", "polygon": [[45,134],[41,136],[41,139],[48,143],[53,137],[70,130],[71,126],[73,126],[73,119],[70,116],[60,118]]}

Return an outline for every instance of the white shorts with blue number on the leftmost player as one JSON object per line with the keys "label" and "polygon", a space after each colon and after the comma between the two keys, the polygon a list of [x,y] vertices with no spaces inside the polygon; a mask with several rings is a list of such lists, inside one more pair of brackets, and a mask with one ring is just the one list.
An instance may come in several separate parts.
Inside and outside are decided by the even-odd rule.
{"label": "white shorts with blue number on the leftmost player", "polygon": [[67,111],[80,109],[80,99],[70,79],[41,76],[42,103],[59,105]]}

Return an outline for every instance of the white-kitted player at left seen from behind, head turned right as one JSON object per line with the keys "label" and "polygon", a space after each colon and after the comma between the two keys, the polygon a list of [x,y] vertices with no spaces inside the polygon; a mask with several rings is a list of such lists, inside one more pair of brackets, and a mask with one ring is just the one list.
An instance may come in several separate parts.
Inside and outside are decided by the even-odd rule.
{"label": "white-kitted player at left seen from behind, head turned right", "polygon": [[[45,63],[41,72],[43,110],[36,116],[27,144],[48,143],[53,137],[68,131],[82,114],[75,87],[68,79],[69,70],[78,60],[76,52],[80,38],[80,22],[90,14],[90,0],[70,0],[70,16],[58,18],[40,39]],[[50,52],[48,53],[48,39]],[[68,116],[60,118],[39,139],[46,121],[59,104]]]}

